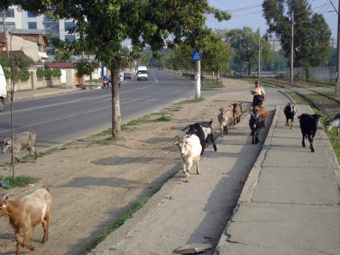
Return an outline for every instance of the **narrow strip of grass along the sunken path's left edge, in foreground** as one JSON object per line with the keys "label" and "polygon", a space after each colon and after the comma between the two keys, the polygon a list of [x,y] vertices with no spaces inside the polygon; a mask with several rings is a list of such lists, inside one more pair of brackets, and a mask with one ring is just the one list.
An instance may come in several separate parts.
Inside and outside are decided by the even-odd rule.
{"label": "narrow strip of grass along the sunken path's left edge, in foreground", "polygon": [[128,210],[128,212],[126,212],[123,216],[121,216],[111,227],[108,227],[108,229],[106,229],[105,232],[103,232],[99,237],[97,237],[97,239],[94,240],[94,243],[89,247],[88,251],[91,251],[91,249],[94,249],[99,243],[103,242],[103,240],[112,232],[115,231],[115,229],[118,229],[118,227],[120,227],[121,225],[124,224],[124,222],[128,219],[130,219],[130,217],[132,217],[132,215],[137,212],[137,210],[140,210],[140,208],[143,207],[143,205],[145,205],[145,203],[147,203],[147,200],[149,200],[149,198],[147,196],[140,198],[140,200],[137,200],[137,202],[132,205],[132,207]]}

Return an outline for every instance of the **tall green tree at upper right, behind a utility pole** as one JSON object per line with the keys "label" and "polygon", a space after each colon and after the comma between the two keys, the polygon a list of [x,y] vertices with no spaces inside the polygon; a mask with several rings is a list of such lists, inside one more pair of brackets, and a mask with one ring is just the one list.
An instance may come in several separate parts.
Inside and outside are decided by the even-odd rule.
{"label": "tall green tree at upper right, behind a utility pole", "polygon": [[263,17],[268,33],[280,40],[285,57],[290,60],[291,23],[294,12],[294,63],[297,67],[327,64],[331,31],[324,16],[312,13],[307,0],[264,0]]}

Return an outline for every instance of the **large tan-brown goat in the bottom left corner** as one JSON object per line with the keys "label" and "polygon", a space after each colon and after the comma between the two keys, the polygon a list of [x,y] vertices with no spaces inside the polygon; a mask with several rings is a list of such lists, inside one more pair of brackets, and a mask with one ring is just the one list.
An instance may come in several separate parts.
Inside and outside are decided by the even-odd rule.
{"label": "large tan-brown goat in the bottom left corner", "polygon": [[9,223],[14,229],[16,237],[16,255],[20,255],[20,234],[23,233],[23,248],[34,250],[34,246],[29,244],[32,227],[42,224],[44,236],[42,244],[48,239],[48,226],[50,225],[50,213],[52,197],[49,188],[38,188],[33,193],[19,198],[18,200],[8,200],[0,198],[0,217],[8,216]]}

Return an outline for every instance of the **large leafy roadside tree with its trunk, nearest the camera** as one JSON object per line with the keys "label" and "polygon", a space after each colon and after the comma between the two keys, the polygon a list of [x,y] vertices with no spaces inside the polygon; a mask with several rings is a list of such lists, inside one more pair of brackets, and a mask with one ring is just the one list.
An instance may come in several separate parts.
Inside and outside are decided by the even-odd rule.
{"label": "large leafy roadside tree with its trunk, nearest the camera", "polygon": [[[111,69],[112,135],[120,137],[120,101],[118,70],[130,57],[149,45],[152,51],[186,44],[200,50],[209,30],[205,14],[213,14],[218,21],[228,20],[229,13],[209,6],[208,0],[7,0],[33,13],[51,11],[56,18],[75,21],[71,33],[79,34],[74,53],[93,52],[94,62]],[[8,3],[6,1],[6,3]],[[130,40],[130,55],[122,50],[122,42]]]}

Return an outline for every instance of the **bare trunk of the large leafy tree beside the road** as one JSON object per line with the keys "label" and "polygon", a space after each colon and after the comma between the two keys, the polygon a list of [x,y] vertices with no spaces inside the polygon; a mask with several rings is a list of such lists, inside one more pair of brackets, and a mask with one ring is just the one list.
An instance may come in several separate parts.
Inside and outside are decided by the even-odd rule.
{"label": "bare trunk of the large leafy tree beside the road", "polygon": [[118,86],[118,68],[111,69],[112,81],[112,137],[115,139],[120,138],[120,101],[119,101],[119,86]]}

